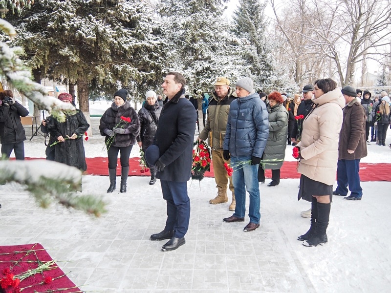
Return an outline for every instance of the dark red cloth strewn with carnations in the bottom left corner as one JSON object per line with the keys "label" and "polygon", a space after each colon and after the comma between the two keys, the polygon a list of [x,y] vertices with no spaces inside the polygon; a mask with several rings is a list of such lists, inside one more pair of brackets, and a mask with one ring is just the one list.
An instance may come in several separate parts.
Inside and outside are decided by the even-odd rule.
{"label": "dark red cloth strewn with carnations in the bottom left corner", "polygon": [[[81,292],[55,263],[47,264],[51,260],[39,243],[0,246],[0,292]],[[46,269],[43,263],[47,264]],[[31,276],[22,276],[35,269],[38,271]]]}

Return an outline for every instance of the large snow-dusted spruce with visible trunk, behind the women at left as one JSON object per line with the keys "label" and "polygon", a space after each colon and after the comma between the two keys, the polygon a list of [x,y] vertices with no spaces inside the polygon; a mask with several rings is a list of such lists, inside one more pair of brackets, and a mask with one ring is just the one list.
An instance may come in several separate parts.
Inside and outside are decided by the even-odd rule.
{"label": "large snow-dusted spruce with visible trunk, behind the women at left", "polygon": [[137,96],[161,82],[161,25],[147,1],[36,0],[6,18],[19,33],[14,43],[41,78],[77,84],[87,117],[91,85],[130,87]]}

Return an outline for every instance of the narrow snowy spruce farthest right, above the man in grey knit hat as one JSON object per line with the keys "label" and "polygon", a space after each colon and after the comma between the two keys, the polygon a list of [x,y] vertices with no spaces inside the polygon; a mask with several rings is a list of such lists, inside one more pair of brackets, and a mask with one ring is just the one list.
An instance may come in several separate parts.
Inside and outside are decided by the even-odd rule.
{"label": "narrow snowy spruce farthest right, above the man in grey knit hat", "polygon": [[273,65],[271,52],[265,40],[265,3],[260,0],[239,0],[234,12],[233,33],[239,38],[242,50],[241,75],[251,77],[254,84],[266,90],[272,87]]}

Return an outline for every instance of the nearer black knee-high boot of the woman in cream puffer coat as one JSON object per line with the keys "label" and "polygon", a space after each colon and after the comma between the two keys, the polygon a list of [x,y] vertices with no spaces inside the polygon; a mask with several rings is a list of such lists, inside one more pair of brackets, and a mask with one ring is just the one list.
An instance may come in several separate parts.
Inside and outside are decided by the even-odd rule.
{"label": "nearer black knee-high boot of the woman in cream puffer coat", "polygon": [[316,220],[315,234],[303,243],[304,246],[314,247],[317,245],[323,245],[327,243],[327,226],[328,219],[330,217],[331,203],[322,204],[317,203],[318,206],[318,219]]}

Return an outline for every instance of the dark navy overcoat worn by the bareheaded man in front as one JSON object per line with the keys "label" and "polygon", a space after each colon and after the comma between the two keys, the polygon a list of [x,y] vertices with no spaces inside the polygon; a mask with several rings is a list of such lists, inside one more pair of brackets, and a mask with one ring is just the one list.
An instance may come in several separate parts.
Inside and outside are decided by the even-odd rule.
{"label": "dark navy overcoat worn by the bareheaded man in front", "polygon": [[153,145],[160,151],[160,161],[166,165],[156,177],[160,180],[186,182],[191,177],[195,108],[183,93],[177,93],[160,113]]}

